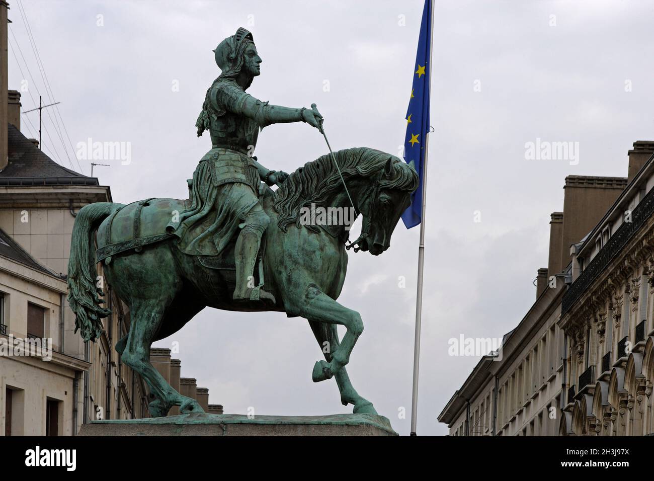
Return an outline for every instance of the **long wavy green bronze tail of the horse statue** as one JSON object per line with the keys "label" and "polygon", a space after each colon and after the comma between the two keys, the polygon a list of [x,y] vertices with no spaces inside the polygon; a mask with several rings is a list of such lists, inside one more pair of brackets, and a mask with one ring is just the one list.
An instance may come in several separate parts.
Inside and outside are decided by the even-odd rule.
{"label": "long wavy green bronze tail of the horse statue", "polygon": [[102,319],[111,310],[100,306],[99,296],[105,294],[97,287],[95,270],[95,230],[120,204],[96,202],[84,205],[75,217],[68,260],[68,302],[75,313],[75,332],[82,339],[95,341],[102,334]]}

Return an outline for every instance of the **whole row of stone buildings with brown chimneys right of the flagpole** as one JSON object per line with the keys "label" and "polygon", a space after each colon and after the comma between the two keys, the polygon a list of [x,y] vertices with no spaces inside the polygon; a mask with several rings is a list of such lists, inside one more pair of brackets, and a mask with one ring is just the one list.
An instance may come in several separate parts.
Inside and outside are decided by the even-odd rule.
{"label": "whole row of stone buildings with brown chimneys right of the flagpole", "polygon": [[566,177],[536,302],[443,408],[450,435],[654,431],[653,153],[634,143],[627,178]]}

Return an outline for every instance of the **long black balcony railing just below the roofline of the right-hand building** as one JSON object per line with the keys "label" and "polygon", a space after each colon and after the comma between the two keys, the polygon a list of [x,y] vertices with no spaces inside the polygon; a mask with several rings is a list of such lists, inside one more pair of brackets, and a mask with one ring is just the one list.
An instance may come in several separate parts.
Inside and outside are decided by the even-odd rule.
{"label": "long black balcony railing just below the roofline of the right-hand building", "polygon": [[645,221],[654,213],[654,188],[647,192],[647,195],[631,213],[631,222],[623,222],[621,226],[611,235],[604,248],[591,260],[588,266],[579,274],[579,277],[568,287],[561,301],[561,314],[565,314],[577,302],[581,294],[590,287],[593,281],[600,275],[611,260],[623,252],[627,242],[640,230]]}

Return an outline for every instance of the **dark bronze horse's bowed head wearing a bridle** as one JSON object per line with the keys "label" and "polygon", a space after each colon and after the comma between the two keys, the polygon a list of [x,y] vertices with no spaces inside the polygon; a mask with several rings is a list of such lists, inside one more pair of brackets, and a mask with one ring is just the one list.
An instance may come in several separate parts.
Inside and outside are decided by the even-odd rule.
{"label": "dark bronze horse's bowed head wearing a bridle", "polygon": [[383,170],[370,180],[359,202],[363,215],[361,235],[347,247],[354,247],[354,252],[380,255],[390,247],[390,236],[402,213],[411,205],[411,193],[418,188],[418,175],[413,166],[388,154]]}

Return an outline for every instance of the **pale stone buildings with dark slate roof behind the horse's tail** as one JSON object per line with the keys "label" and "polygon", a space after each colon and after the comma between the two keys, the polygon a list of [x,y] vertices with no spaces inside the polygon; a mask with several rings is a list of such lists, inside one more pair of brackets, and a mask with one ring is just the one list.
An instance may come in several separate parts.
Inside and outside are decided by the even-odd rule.
{"label": "pale stone buildings with dark slate roof behind the horse's tail", "polygon": [[[73,223],[84,205],[112,202],[111,190],[21,133],[20,93],[7,88],[7,10],[0,0],[0,434],[76,435],[93,419],[148,417],[147,385],[114,349],[130,319],[111,287],[99,340],[75,333],[66,283]],[[158,362],[161,351],[153,349]],[[167,363],[173,387],[222,412],[208,389],[180,378],[179,360],[168,353]]]}

